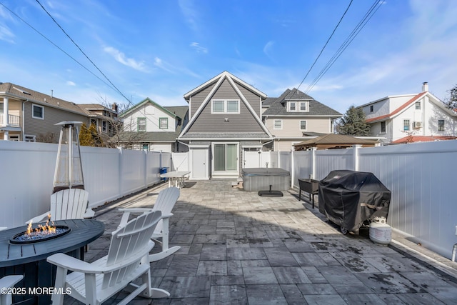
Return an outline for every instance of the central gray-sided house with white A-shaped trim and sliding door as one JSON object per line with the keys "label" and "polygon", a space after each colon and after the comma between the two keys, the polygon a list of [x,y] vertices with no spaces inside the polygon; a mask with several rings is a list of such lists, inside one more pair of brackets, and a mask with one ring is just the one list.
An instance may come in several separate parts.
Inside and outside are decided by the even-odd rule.
{"label": "central gray-sided house with white A-shaped trim and sliding door", "polygon": [[178,140],[189,146],[191,179],[238,177],[244,153],[260,152],[273,140],[261,121],[266,94],[227,71],[184,94],[184,99],[189,124]]}

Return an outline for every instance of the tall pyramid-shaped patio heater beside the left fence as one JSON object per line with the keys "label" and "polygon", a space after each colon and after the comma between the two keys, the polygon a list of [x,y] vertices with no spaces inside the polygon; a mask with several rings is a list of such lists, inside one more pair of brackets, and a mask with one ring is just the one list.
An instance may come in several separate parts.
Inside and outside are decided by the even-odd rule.
{"label": "tall pyramid-shaped patio heater beside the left fence", "polygon": [[63,189],[84,189],[81,149],[79,148],[80,121],[62,121],[59,149],[57,150],[56,169],[52,193]]}

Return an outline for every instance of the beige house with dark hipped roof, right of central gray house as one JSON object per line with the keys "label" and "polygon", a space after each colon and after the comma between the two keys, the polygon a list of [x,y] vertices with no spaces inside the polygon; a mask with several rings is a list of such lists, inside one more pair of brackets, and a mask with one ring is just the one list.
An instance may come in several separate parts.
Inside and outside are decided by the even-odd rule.
{"label": "beige house with dark hipped roof, right of central gray house", "polygon": [[333,133],[333,121],[341,114],[297,89],[263,101],[263,122],[274,137],[274,151],[291,151],[308,134]]}

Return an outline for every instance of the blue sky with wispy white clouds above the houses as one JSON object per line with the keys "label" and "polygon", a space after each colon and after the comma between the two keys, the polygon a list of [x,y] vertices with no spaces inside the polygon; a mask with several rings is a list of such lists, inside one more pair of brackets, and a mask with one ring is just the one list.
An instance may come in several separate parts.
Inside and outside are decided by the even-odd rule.
{"label": "blue sky with wispy white clouds above the houses", "polygon": [[[133,104],[149,97],[181,106],[184,94],[222,71],[270,97],[297,87],[350,0],[39,2]],[[375,2],[353,0],[299,89],[341,113],[418,93],[423,81],[444,99],[457,84],[454,0],[383,1],[307,91]],[[0,4],[0,81],[78,104],[128,103],[36,0]]]}

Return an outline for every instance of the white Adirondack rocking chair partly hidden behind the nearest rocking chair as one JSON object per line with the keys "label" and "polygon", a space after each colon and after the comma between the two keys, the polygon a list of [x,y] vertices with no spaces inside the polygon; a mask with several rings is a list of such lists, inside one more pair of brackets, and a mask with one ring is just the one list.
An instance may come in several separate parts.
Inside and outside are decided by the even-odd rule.
{"label": "white Adirondack rocking chair partly hidden behind the nearest rocking chair", "polygon": [[[152,208],[119,209],[119,211],[124,212],[120,226],[126,224],[126,222],[129,221],[130,213],[147,213],[149,211],[162,212],[162,219],[159,221],[159,224],[157,224],[156,230],[151,236],[152,240],[156,241],[158,244],[161,244],[162,251],[159,253],[150,254],[149,261],[151,262],[164,259],[166,256],[174,254],[176,251],[181,249],[181,246],[173,246],[169,248],[169,220],[170,217],[173,216],[171,210],[176,204],[176,201],[178,201],[179,194],[179,189],[175,186],[171,186],[160,191],[159,196],[157,196],[156,202]],[[159,240],[159,238],[161,240]]]}

